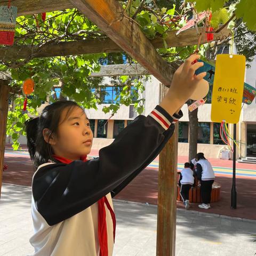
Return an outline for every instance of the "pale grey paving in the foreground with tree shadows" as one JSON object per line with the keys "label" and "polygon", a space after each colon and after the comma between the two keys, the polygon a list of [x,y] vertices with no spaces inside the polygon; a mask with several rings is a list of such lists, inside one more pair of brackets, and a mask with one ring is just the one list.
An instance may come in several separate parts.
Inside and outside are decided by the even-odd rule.
{"label": "pale grey paving in the foreground with tree shadows", "polygon": [[[155,256],[157,207],[124,201],[115,201],[114,207],[117,217],[114,255]],[[0,256],[33,253],[28,242],[33,234],[30,188],[4,184],[0,212]],[[176,256],[254,256],[255,253],[256,221],[178,210]]]}

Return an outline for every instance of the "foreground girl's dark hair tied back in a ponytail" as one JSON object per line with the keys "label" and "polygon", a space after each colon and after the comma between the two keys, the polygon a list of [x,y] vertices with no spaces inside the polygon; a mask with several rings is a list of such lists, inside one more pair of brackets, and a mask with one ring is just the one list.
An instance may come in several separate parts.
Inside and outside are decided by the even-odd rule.
{"label": "foreground girl's dark hair tied back in a ponytail", "polygon": [[30,119],[26,123],[28,151],[36,169],[39,165],[47,163],[49,159],[54,161],[52,147],[44,140],[43,130],[50,130],[49,134],[47,134],[49,138],[52,134],[57,134],[61,113],[63,110],[68,109],[66,119],[75,107],[81,108],[74,101],[57,101],[46,106],[41,116]]}

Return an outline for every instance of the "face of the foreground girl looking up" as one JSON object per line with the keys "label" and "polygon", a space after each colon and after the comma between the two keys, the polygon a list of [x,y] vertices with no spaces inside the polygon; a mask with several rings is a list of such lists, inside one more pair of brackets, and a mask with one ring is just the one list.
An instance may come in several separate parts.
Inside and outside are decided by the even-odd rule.
{"label": "face of the foreground girl looking up", "polygon": [[90,153],[93,133],[90,121],[81,108],[75,107],[66,118],[67,111],[62,111],[58,133],[50,143],[55,155],[77,160]]}

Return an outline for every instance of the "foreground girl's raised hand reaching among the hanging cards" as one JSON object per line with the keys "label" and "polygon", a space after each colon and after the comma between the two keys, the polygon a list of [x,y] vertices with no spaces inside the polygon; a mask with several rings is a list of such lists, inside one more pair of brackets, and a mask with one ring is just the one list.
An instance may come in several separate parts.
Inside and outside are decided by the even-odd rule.
{"label": "foreground girl's raised hand reaching among the hanging cards", "polygon": [[196,90],[198,83],[206,75],[206,72],[195,75],[195,71],[204,65],[203,62],[194,63],[194,61],[199,58],[200,55],[191,55],[174,73],[166,97],[179,101],[181,106],[190,99],[190,96]]}

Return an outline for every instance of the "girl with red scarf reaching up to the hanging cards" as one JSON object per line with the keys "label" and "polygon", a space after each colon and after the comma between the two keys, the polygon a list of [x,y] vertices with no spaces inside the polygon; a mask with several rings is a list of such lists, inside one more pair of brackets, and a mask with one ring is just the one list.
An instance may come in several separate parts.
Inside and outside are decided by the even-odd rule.
{"label": "girl with red scarf reaching up to the hanging cards", "polygon": [[111,197],[160,153],[182,116],[181,106],[206,73],[191,55],[175,72],[169,92],[146,117],[138,116],[111,145],[88,160],[93,134],[84,110],[73,101],[46,106],[27,123],[28,149],[36,172],[32,181],[30,238],[34,256],[108,256],[116,220]]}

